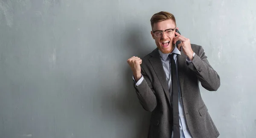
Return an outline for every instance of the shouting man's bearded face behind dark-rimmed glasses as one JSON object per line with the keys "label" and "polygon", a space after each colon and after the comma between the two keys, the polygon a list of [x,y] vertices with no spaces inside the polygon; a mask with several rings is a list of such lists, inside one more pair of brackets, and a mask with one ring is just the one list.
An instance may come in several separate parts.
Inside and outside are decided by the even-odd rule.
{"label": "shouting man's bearded face behind dark-rimmed glasses", "polygon": [[[164,20],[161,22],[154,23],[152,30],[166,30],[166,29],[175,29],[175,22],[171,19]],[[175,48],[175,44],[173,44],[173,39],[175,37],[175,30],[172,32],[172,35],[168,36],[165,32],[163,32],[162,37],[156,37],[155,34],[151,31],[151,35],[157,44],[157,48],[165,54],[171,53]]]}

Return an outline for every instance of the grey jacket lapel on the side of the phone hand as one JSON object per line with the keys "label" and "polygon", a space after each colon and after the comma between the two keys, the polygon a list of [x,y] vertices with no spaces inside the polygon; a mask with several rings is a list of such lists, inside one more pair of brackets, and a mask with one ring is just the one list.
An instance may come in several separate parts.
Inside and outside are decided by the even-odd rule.
{"label": "grey jacket lapel on the side of the phone hand", "polygon": [[186,64],[186,55],[181,51],[181,54],[177,56],[177,63],[178,63],[178,76],[180,80],[180,92],[181,96],[183,95],[183,85],[184,85],[184,72],[185,71],[185,64]]}

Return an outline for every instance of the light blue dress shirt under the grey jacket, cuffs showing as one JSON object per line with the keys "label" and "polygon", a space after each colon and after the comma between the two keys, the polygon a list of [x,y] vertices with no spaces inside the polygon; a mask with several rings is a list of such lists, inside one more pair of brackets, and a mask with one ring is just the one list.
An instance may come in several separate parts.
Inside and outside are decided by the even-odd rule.
{"label": "light blue dress shirt under the grey jacket, cuffs showing", "polygon": [[[175,49],[172,51],[172,53],[175,53],[173,58],[175,60],[176,63],[176,70],[178,73],[178,66],[177,66],[177,54],[180,55],[180,51],[178,50],[178,48],[175,46]],[[170,54],[172,54],[170,53]],[[172,93],[172,76],[171,76],[171,59],[168,57],[169,54],[163,54],[160,50],[159,50],[159,54],[161,56],[161,61],[162,61],[162,65],[163,65],[163,70],[166,74],[166,81],[168,82],[168,87],[169,87],[169,92]],[[193,54],[193,57],[195,56],[195,53]],[[188,58],[186,59],[187,62],[191,63],[192,61],[190,61]],[[134,79],[134,77],[133,77]],[[136,86],[140,85],[141,82],[143,81],[143,76],[140,78],[140,80],[135,84]],[[135,82],[135,80],[134,80]],[[178,82],[180,83],[180,82]],[[179,85],[180,87],[180,85]],[[181,100],[181,95],[180,95],[180,88],[179,88],[179,117],[180,117],[180,138],[192,138],[188,128],[187,128],[187,124],[186,124],[186,119],[185,119],[185,115],[184,115],[184,109],[183,109],[183,102]],[[173,130],[172,130],[172,138],[173,138]]]}

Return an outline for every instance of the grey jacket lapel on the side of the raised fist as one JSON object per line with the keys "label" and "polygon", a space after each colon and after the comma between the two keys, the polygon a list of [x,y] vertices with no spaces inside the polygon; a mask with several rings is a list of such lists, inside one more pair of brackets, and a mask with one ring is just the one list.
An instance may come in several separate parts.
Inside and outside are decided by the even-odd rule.
{"label": "grey jacket lapel on the side of the raised fist", "polygon": [[155,73],[157,75],[157,78],[159,79],[159,81],[160,81],[160,83],[163,87],[163,90],[166,94],[166,97],[167,97],[169,103],[171,104],[168,84],[167,84],[167,81],[166,81],[166,75],[164,73],[163,65],[162,65],[162,62],[161,62],[161,59],[160,59],[160,54],[158,53],[157,48],[154,51],[152,51],[151,56],[152,57],[149,58],[149,61],[152,65],[152,67],[154,68],[154,71],[155,71]]}

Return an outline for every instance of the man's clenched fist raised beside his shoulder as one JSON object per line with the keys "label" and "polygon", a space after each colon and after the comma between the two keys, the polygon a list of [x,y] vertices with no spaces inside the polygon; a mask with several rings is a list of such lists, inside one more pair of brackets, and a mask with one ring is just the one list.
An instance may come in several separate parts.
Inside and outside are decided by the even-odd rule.
{"label": "man's clenched fist raised beside his shoulder", "polygon": [[137,56],[133,56],[130,59],[128,59],[127,62],[130,65],[134,75],[134,79],[137,82],[141,78],[140,64],[142,63],[142,60]]}

